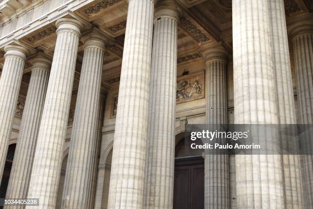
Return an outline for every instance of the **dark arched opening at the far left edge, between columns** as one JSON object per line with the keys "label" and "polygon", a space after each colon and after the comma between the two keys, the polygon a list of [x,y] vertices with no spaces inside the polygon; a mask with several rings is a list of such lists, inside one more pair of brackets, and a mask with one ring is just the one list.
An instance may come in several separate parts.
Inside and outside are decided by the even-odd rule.
{"label": "dark arched opening at the far left edge, between columns", "polygon": [[[1,183],[1,185],[0,185],[0,198],[6,198],[6,193],[7,193],[7,189],[8,189],[10,173],[11,173],[12,163],[13,163],[13,158],[14,158],[14,153],[15,153],[15,148],[16,148],[16,143],[9,145],[4,172],[3,172],[2,179],[0,181],[0,183]],[[3,206],[0,206],[0,208],[3,208]]]}

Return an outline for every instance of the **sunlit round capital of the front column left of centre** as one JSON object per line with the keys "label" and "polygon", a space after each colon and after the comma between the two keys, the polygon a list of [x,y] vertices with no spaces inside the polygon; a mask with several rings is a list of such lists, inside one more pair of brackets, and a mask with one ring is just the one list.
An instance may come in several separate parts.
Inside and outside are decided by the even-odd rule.
{"label": "sunlit round capital of the front column left of centre", "polygon": [[56,33],[63,30],[70,30],[81,36],[81,31],[83,29],[83,24],[81,22],[79,22],[77,19],[68,17],[58,19],[55,25],[57,27]]}

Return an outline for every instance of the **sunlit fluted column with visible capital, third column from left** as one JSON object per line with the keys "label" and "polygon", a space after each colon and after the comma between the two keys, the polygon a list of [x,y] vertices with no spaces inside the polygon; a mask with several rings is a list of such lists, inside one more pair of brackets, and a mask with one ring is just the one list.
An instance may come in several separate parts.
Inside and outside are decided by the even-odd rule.
{"label": "sunlit fluted column with visible capital, third column from left", "polygon": [[39,206],[55,208],[62,164],[62,149],[68,124],[81,24],[75,19],[56,22],[57,40],[46,100],[39,128],[28,198],[39,198]]}

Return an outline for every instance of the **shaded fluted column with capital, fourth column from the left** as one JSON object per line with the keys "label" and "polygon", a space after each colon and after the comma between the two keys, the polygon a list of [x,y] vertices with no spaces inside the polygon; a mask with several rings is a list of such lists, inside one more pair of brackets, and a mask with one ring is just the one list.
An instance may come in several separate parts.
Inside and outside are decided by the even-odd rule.
{"label": "shaded fluted column with capital, fourth column from the left", "polygon": [[79,79],[62,208],[88,207],[95,161],[104,41],[89,38]]}

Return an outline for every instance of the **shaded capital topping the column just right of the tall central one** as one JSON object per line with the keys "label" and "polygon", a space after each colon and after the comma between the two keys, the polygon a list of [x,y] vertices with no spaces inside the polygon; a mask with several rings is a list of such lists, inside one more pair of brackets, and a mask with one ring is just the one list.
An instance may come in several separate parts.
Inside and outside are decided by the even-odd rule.
{"label": "shaded capital topping the column just right of the tall central one", "polygon": [[182,11],[175,2],[169,0],[159,1],[155,6],[154,22],[160,18],[171,18],[178,22],[181,15]]}

